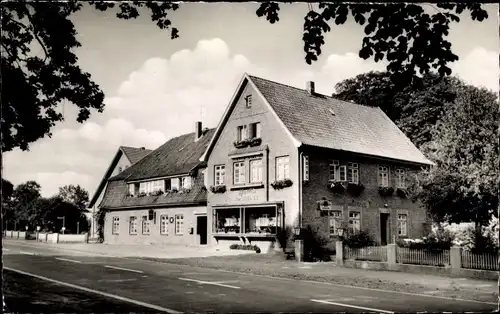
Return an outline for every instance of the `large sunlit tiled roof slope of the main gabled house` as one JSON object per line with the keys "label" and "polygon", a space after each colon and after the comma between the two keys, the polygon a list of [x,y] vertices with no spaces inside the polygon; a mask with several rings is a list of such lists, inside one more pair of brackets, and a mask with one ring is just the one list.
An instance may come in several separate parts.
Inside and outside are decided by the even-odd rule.
{"label": "large sunlit tiled roof slope of the main gabled house", "polygon": [[248,76],[302,144],[432,164],[378,107]]}

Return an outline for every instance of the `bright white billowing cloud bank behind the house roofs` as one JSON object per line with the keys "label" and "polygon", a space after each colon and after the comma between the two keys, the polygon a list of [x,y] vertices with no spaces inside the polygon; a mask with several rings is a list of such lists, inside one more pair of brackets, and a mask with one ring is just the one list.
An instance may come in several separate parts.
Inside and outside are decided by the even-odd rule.
{"label": "bright white billowing cloud bank behind the house roofs", "polygon": [[[198,120],[215,127],[245,72],[299,88],[315,81],[318,92],[329,95],[336,83],[385,67],[357,53],[331,54],[324,60],[316,68],[264,68],[233,53],[219,38],[200,40],[193,49],[169,58],[150,58],[108,93],[105,111],[98,117],[57,126],[54,136],[35,143],[31,152],[5,154],[6,177],[14,184],[38,180],[44,195],[70,183],[93,193],[118,146],[154,149],[171,137],[193,132]],[[461,58],[454,71],[491,88],[498,85],[497,61],[496,53],[478,48]]]}

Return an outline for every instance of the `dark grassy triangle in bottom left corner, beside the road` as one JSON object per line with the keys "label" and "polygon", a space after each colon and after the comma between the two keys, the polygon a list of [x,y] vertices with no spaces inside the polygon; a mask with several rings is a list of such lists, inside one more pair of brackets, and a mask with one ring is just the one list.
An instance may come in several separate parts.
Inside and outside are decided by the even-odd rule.
{"label": "dark grassy triangle in bottom left corner, beside the road", "polygon": [[3,270],[6,313],[154,313],[98,294]]}

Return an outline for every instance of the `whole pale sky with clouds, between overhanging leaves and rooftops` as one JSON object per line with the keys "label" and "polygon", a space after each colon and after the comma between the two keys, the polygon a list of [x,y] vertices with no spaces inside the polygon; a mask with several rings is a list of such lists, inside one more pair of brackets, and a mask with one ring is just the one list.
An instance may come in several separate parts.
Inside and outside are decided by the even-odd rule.
{"label": "whole pale sky with clouds, between overhanging leaves and rooftops", "polygon": [[[481,23],[462,15],[448,40],[460,60],[454,75],[498,92],[498,5],[485,5]],[[306,3],[281,4],[280,21],[255,14],[257,3],[182,3],[170,13],[180,37],[171,40],[147,14],[119,20],[115,12],[88,6],[72,20],[82,47],[81,68],[104,91],[105,110],[76,122],[71,103],[61,105],[65,121],[53,136],[30,151],[4,154],[3,177],[17,185],[35,180],[42,195],[79,184],[90,196],[118,147],[155,149],[168,139],[194,131],[195,121],[216,127],[245,72],[332,94],[336,83],[384,65],[358,57],[363,27],[348,21],[325,35],[319,60],[308,65],[302,43]],[[426,10],[433,10],[426,6]]]}

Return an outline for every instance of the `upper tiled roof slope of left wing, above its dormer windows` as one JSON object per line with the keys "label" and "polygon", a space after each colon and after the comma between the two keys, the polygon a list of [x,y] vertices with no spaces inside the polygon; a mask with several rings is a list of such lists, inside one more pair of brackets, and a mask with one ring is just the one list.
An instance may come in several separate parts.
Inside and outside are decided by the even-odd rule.
{"label": "upper tiled roof slope of left wing, above its dormer windows", "polygon": [[110,181],[145,180],[189,173],[200,164],[199,159],[205,152],[214,131],[214,129],[205,130],[203,136],[196,142],[194,132],[172,138],[133,166],[110,178]]}

